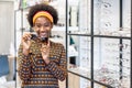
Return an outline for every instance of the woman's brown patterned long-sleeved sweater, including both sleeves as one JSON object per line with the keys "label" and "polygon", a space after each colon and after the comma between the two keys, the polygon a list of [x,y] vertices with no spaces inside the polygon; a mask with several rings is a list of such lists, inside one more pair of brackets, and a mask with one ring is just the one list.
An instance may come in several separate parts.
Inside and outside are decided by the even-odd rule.
{"label": "woman's brown patterned long-sleeved sweater, including both sleeves", "polygon": [[50,64],[46,65],[41,55],[41,41],[31,41],[30,55],[24,56],[22,45],[19,48],[18,73],[22,88],[59,88],[58,79],[64,80],[66,73],[65,48],[59,43],[51,42]]}

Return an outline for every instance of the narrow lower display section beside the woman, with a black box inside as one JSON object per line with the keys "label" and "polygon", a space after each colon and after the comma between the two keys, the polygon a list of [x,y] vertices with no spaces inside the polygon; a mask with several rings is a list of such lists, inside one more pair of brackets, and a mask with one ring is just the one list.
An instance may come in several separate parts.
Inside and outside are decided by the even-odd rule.
{"label": "narrow lower display section beside the woman, with a black box inside", "polygon": [[68,69],[85,77],[90,77],[90,38],[69,35]]}

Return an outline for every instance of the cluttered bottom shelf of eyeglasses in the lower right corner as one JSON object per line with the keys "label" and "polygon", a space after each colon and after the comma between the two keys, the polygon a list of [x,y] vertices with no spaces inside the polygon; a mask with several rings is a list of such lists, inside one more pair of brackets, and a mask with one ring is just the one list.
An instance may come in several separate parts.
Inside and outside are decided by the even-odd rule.
{"label": "cluttered bottom shelf of eyeglasses in the lower right corner", "polygon": [[116,70],[98,69],[95,72],[95,79],[113,88],[130,88],[130,75],[120,75]]}

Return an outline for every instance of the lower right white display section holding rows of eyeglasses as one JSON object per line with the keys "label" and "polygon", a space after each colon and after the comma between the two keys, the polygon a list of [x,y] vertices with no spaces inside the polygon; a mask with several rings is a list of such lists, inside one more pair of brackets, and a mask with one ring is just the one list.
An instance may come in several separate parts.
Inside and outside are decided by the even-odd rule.
{"label": "lower right white display section holding rows of eyeglasses", "polygon": [[95,80],[130,88],[130,40],[95,38]]}

